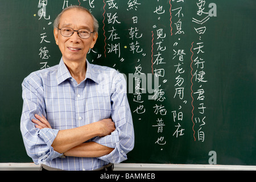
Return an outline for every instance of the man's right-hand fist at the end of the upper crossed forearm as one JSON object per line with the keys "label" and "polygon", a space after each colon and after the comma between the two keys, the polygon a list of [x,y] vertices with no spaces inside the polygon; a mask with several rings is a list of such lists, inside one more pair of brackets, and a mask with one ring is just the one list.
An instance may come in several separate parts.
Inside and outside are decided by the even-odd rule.
{"label": "man's right-hand fist at the end of the upper crossed forearm", "polygon": [[99,137],[105,137],[110,135],[115,130],[115,123],[112,119],[102,119],[101,121],[96,122],[99,126]]}

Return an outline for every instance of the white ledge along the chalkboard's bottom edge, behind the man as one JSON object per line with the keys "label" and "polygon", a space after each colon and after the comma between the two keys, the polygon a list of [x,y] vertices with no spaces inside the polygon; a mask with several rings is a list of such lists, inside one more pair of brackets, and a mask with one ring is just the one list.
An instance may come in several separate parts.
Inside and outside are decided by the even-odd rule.
{"label": "white ledge along the chalkboard's bottom edge, behind the man", "polygon": [[[34,163],[0,163],[0,171],[38,171]],[[256,171],[256,166],[201,164],[114,164],[114,171]]]}

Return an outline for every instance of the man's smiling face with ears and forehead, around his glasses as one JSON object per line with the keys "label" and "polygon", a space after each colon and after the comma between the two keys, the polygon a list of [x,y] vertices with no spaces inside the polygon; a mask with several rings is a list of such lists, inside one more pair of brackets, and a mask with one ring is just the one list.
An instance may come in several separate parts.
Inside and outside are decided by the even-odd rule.
{"label": "man's smiling face with ears and forehead, around his glasses", "polygon": [[[86,28],[93,32],[93,18],[89,13],[79,9],[67,10],[60,18],[59,28],[70,27],[73,30]],[[56,44],[59,46],[64,61],[85,61],[86,54],[96,43],[98,34],[92,33],[88,39],[81,39],[77,32],[64,37],[60,30],[54,29]]]}

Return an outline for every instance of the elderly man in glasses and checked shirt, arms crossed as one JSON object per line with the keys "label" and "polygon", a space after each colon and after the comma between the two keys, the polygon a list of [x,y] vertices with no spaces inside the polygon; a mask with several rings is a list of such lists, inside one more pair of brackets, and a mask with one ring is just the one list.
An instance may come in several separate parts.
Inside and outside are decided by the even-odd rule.
{"label": "elderly man in glasses and checked shirt, arms crossed", "polygon": [[86,60],[98,37],[98,22],[87,9],[67,7],[54,26],[59,65],[22,83],[27,154],[42,170],[112,170],[134,147],[125,78]]}

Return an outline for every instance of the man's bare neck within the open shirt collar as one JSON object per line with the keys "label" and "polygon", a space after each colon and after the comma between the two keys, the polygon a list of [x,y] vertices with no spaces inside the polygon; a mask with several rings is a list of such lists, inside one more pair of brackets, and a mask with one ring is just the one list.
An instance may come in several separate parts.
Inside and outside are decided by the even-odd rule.
{"label": "man's bare neck within the open shirt collar", "polygon": [[80,84],[86,75],[86,59],[84,61],[63,61],[71,76],[76,80],[77,84]]}

